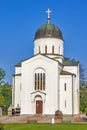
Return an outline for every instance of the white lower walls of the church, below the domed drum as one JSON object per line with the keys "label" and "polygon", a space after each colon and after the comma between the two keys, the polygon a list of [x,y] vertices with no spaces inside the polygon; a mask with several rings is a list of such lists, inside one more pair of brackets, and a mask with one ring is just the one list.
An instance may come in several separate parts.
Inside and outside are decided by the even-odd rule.
{"label": "white lower walls of the church, below the domed drum", "polygon": [[[46,73],[46,89],[41,93],[34,90],[34,72],[37,68],[44,69]],[[77,89],[79,88],[79,71],[76,66],[65,66],[65,71],[75,73],[74,77],[74,114],[78,114]],[[50,58],[42,55],[34,56],[22,62],[21,68],[16,68],[16,73],[21,76],[15,76],[15,98],[14,106],[21,106],[21,114],[35,114],[35,95],[40,95],[43,101],[43,114],[55,114],[58,110],[60,99],[60,110],[63,114],[72,114],[72,76],[61,75],[59,83],[59,64]],[[64,91],[64,83],[67,84],[67,90]],[[58,99],[58,88],[60,84],[60,98]],[[21,90],[20,90],[21,85]],[[34,93],[34,94],[33,94]],[[66,107],[65,107],[66,100]]]}

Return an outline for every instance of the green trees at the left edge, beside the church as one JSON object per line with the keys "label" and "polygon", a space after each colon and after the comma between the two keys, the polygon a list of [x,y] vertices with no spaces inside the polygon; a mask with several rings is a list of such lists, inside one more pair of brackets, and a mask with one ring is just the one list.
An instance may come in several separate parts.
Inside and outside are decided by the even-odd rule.
{"label": "green trees at the left edge, beside the church", "polygon": [[4,77],[5,71],[0,68],[0,105],[3,106],[3,110],[7,112],[12,100],[12,87],[3,81]]}

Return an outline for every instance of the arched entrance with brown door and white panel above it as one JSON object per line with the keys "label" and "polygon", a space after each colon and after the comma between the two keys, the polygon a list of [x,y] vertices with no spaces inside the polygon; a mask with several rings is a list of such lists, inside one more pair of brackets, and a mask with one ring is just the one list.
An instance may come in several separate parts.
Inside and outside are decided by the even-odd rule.
{"label": "arched entrance with brown door and white panel above it", "polygon": [[43,101],[41,96],[36,96],[36,114],[42,114],[43,112]]}

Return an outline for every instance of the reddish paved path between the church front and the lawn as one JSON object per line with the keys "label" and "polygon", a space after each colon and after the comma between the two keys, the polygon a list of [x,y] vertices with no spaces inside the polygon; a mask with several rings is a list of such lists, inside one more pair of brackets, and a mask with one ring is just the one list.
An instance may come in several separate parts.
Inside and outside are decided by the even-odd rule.
{"label": "reddish paved path between the church front and the lawn", "polygon": [[[35,116],[3,116],[0,117],[0,123],[29,123],[29,122],[37,122],[37,123],[52,123],[52,119],[54,116],[43,116],[43,115],[35,115]],[[63,117],[64,122],[77,122],[76,117]],[[55,120],[56,123],[60,123],[61,120]],[[83,116],[80,118],[80,122],[87,123],[87,117]]]}

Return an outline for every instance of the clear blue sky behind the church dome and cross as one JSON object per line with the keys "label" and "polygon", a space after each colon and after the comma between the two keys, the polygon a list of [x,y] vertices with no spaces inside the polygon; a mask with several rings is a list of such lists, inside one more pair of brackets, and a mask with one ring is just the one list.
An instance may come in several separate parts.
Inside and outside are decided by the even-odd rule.
{"label": "clear blue sky behind the church dome and cross", "polygon": [[14,65],[33,55],[33,39],[39,26],[51,23],[64,37],[64,56],[87,68],[87,0],[0,0],[0,68],[5,82],[12,82]]}

